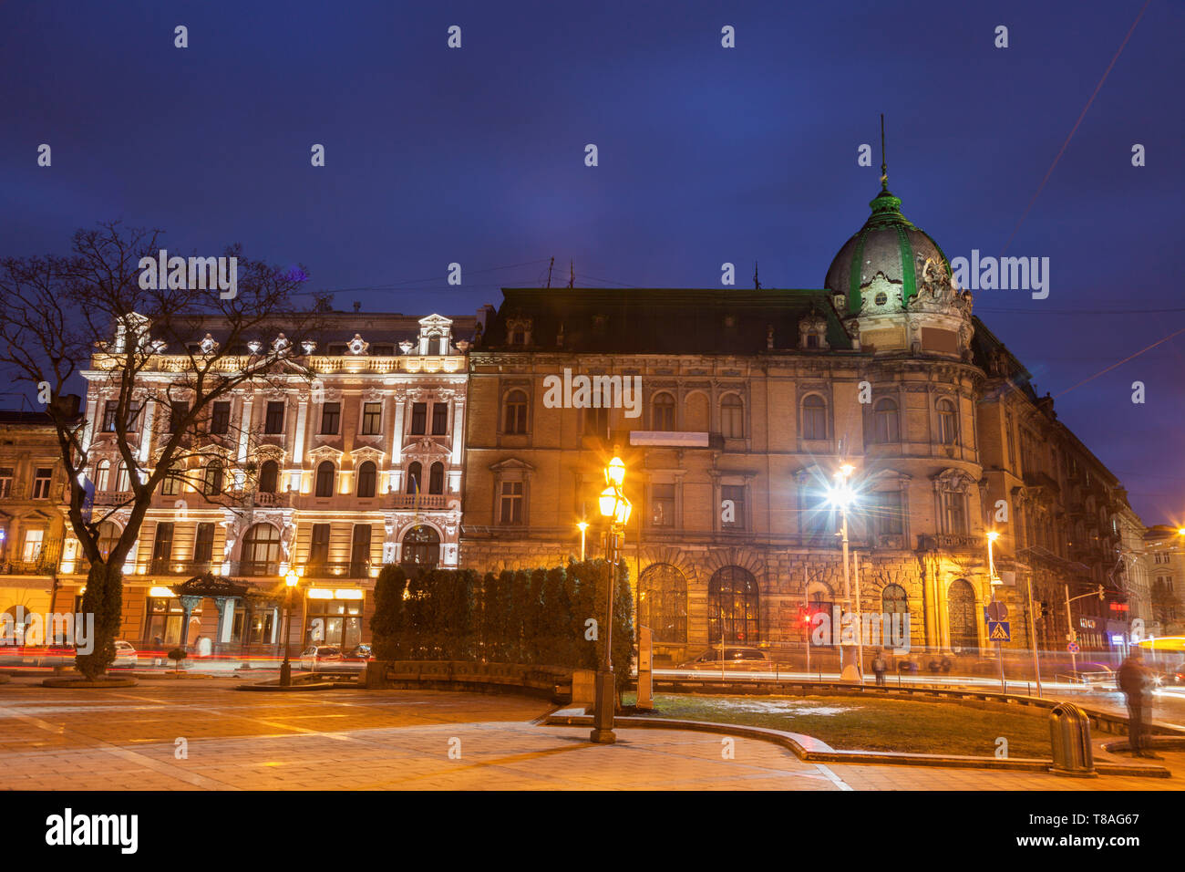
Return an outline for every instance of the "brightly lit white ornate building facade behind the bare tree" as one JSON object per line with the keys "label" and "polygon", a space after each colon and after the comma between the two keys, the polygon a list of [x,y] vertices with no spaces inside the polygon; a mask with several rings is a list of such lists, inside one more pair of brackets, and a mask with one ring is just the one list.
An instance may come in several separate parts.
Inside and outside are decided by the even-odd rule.
{"label": "brightly lit white ornate building facade behind the bare tree", "polygon": [[[152,647],[203,635],[214,650],[274,650],[292,568],[302,583],[290,641],[350,649],[370,638],[367,592],[384,562],[457,565],[468,342],[454,331],[472,335],[475,319],[319,320],[320,340],[212,405],[177,477],[153,496],[123,567],[124,638]],[[218,342],[218,325],[205,326],[199,349]],[[287,342],[261,335],[244,352]],[[159,386],[188,362],[181,349],[159,349],[140,374],[128,429],[141,469],[172,432]],[[111,420],[116,381],[98,363],[85,376],[91,513],[109,549],[128,521],[129,472]],[[60,568],[68,592],[85,583],[69,536]]]}

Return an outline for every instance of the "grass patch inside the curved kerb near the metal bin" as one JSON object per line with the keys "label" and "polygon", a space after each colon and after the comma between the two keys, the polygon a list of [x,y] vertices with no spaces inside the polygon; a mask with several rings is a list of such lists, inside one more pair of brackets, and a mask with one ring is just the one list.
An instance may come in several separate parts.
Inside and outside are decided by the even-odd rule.
{"label": "grass patch inside the curved kerb near the metal bin", "polygon": [[[633,701],[634,694],[622,700]],[[992,757],[995,740],[1003,736],[1008,740],[1008,757],[1051,756],[1049,723],[1044,718],[953,702],[655,694],[652,714],[806,733],[841,751]]]}

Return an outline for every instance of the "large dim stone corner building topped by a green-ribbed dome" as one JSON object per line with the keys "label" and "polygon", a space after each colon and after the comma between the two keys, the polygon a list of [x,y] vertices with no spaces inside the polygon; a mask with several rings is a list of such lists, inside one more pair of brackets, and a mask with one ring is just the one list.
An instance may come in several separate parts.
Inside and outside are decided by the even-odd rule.
{"label": "large dim stone corner building topped by a green-ribbed dome", "polygon": [[[504,291],[469,357],[462,565],[565,560],[582,520],[600,554],[596,496],[616,452],[639,620],[667,662],[722,637],[793,660],[803,612],[845,600],[908,613],[915,650],[980,661],[993,587],[1010,645],[1027,647],[1030,581],[1051,604],[1033,616],[1038,641],[1064,651],[1064,590],[1103,584],[1123,600],[1119,483],[973,317],[901,201],[883,186],[870,205],[818,291]],[[569,390],[578,376],[638,383],[640,406]],[[858,492],[847,593],[827,494],[841,464]],[[1072,619],[1110,619],[1106,606],[1080,599]],[[1082,647],[1106,650],[1088,624]]]}

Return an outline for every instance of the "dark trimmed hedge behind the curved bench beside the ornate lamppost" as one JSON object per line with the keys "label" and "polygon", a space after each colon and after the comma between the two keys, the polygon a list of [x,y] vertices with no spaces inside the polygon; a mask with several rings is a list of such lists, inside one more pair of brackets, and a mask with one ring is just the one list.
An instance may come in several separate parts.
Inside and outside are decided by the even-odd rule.
{"label": "dark trimmed hedge behind the curved bench beside the ornate lamppost", "polygon": [[[506,569],[421,569],[386,565],[374,584],[377,660],[473,660],[596,669],[604,656],[610,566],[604,560]],[[629,680],[634,605],[624,561],[614,592],[613,664]],[[596,639],[588,619],[597,622]]]}

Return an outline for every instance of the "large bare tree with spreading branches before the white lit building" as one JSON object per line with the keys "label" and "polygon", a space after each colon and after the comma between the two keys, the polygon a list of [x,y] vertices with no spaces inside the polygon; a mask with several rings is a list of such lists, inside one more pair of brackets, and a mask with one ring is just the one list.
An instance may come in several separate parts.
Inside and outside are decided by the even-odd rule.
{"label": "large bare tree with spreading branches before the white lit building", "polygon": [[[203,259],[175,274],[171,259],[167,276],[146,281],[142,259],[158,257],[160,236],[101,222],[75,234],[69,255],[0,261],[0,371],[49,400],[68,473],[66,515],[90,565],[83,611],[95,615],[95,649],[77,663],[91,679],[115,658],[122,567],[166,478],[209,480],[217,459],[228,486],[210,482],[198,492],[236,504],[254,489],[251,465],[238,463],[243,452],[230,445],[249,435],[241,429],[249,425],[214,432],[222,431],[211,427],[214,403],[252,382],[310,377],[299,352],[316,332],[316,316],[292,301],[302,268],[250,260],[236,246],[223,253],[237,263],[233,297],[192,280]],[[96,420],[71,415],[60,401],[78,376],[103,397]],[[118,459],[128,490],[92,508],[88,473],[98,454]],[[104,554],[100,527],[120,510],[127,522]]]}

